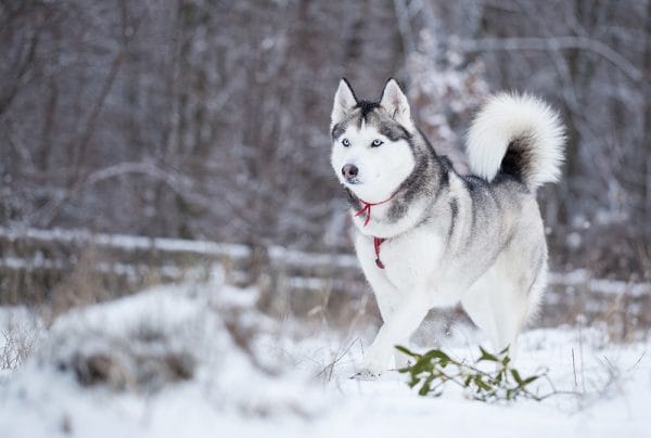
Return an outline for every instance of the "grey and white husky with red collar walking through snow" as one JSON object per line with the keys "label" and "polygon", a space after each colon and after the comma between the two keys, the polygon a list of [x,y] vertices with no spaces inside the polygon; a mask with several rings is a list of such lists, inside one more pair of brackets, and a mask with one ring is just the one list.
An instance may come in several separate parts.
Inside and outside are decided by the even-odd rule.
{"label": "grey and white husky with red collar walking through snow", "polygon": [[394,347],[430,309],[458,302],[496,350],[514,351],[546,286],[536,190],[561,173],[558,113],[528,94],[489,98],[468,133],[469,176],[435,153],[393,78],[378,101],[358,100],[342,79],[330,133],[355,250],[383,320],[361,373],[406,360]]}

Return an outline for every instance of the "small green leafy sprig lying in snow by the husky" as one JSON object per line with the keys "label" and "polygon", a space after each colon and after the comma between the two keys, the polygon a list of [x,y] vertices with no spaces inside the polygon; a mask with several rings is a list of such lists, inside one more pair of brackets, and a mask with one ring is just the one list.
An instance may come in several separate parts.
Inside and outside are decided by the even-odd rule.
{"label": "small green leafy sprig lying in snow by the husky", "polygon": [[[531,389],[529,385],[541,378],[547,378],[547,372],[523,377],[521,373],[511,366],[509,349],[492,355],[480,347],[482,355],[472,364],[460,362],[450,358],[442,350],[434,349],[418,355],[400,346],[396,348],[414,360],[400,370],[400,373],[409,374],[411,377],[408,385],[411,388],[419,387],[420,396],[432,395],[438,397],[443,394],[443,387],[452,383],[468,391],[468,396],[474,400],[490,402],[518,398],[527,398],[540,401],[549,396],[560,394],[556,389],[546,395],[538,395]],[[482,370],[482,362],[493,362],[495,370]]]}

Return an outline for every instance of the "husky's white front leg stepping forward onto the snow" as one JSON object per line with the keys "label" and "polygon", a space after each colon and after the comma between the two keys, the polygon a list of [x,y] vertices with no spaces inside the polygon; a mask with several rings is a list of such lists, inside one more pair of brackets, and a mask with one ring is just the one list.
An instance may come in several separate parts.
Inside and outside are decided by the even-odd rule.
{"label": "husky's white front leg stepping forward onto the snow", "polygon": [[362,372],[380,374],[395,352],[395,346],[409,340],[429,310],[427,295],[423,291],[407,294],[384,321],[375,340],[367,350]]}

